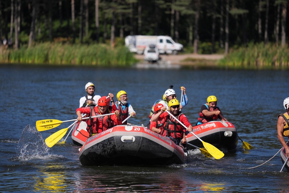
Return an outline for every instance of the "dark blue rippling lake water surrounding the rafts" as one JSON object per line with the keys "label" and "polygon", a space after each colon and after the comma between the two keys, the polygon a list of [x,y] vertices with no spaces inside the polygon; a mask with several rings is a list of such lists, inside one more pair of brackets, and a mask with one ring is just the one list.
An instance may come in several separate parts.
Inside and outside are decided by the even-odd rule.
{"label": "dark blue rippling lake water surrounding the rafts", "polygon": [[[186,69],[97,69],[92,67],[0,66],[0,192],[289,192],[289,172],[280,154],[277,115],[289,96],[288,71],[226,71]],[[222,159],[190,150],[186,162],[163,167],[84,167],[78,146],[68,137],[64,145],[45,145],[52,133],[38,132],[37,120],[76,119],[79,98],[87,82],[95,94],[125,90],[137,113],[132,124],[147,124],[151,106],[169,85],[180,98],[186,87],[189,104],[183,113],[194,125],[202,104],[216,95],[218,107],[239,136],[255,149]],[[68,133],[68,132],[67,132]]]}

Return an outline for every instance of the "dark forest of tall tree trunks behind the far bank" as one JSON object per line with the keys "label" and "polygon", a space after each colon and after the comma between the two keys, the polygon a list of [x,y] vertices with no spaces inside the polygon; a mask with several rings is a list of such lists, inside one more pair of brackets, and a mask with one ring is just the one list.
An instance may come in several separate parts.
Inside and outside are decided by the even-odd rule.
{"label": "dark forest of tall tree trunks behind the far bank", "polygon": [[288,0],[4,0],[0,10],[0,46],[14,50],[46,42],[114,49],[127,35],[168,35],[187,53],[288,50]]}

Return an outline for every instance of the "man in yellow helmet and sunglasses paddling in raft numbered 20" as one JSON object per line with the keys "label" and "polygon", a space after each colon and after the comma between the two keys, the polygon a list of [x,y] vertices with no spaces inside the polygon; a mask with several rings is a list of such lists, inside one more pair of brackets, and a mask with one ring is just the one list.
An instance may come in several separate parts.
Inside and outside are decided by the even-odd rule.
{"label": "man in yellow helmet and sunglasses paddling in raft numbered 20", "polygon": [[161,128],[160,135],[166,136],[174,141],[177,145],[180,145],[184,150],[184,144],[186,144],[185,131],[192,131],[193,127],[190,124],[187,117],[179,111],[180,103],[176,99],[172,99],[168,102],[169,111],[173,114],[181,123],[183,123],[188,129],[182,126],[177,120],[175,120],[166,111],[166,107],[163,106],[158,113],[151,117],[152,122],[162,121],[164,125]]}

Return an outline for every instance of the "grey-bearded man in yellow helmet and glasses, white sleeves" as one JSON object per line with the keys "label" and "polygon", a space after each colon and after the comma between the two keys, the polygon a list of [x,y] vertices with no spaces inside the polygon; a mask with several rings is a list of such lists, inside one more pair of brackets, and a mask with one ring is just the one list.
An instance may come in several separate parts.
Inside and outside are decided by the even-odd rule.
{"label": "grey-bearded man in yellow helmet and glasses, white sleeves", "polygon": [[[116,101],[116,108],[119,111],[119,115],[121,117],[121,120],[125,120],[129,115],[136,116],[136,112],[132,108],[131,104],[127,102],[127,93],[125,91],[119,91],[116,94],[116,98],[118,101]],[[112,102],[112,105],[114,103],[114,100],[110,100]],[[127,122],[124,122],[123,124],[127,124]]]}

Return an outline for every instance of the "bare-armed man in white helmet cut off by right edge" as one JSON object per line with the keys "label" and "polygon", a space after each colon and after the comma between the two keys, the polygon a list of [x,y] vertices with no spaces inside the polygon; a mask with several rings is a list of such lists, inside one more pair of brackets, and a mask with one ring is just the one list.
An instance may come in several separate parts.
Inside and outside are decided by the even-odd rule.
{"label": "bare-armed man in white helmet cut off by right edge", "polygon": [[283,101],[283,106],[286,109],[286,112],[278,115],[277,136],[286,151],[286,157],[288,157],[289,147],[287,146],[284,137],[288,137],[289,139],[289,97]]}

